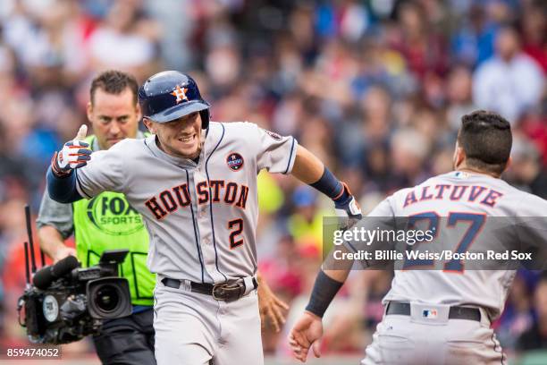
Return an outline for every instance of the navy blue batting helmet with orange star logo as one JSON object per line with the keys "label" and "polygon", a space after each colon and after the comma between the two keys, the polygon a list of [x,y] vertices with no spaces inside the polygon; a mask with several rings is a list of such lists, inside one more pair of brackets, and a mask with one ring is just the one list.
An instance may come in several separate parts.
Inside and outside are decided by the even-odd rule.
{"label": "navy blue batting helmet with orange star logo", "polygon": [[202,128],[209,126],[209,103],[201,98],[198,84],[186,73],[164,71],[148,78],[139,88],[142,116],[165,123],[199,112]]}

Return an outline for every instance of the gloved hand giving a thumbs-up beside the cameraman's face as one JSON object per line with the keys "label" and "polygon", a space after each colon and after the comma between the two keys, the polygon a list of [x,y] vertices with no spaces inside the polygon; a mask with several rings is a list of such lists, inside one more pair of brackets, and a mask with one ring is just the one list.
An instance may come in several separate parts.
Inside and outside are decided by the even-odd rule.
{"label": "gloved hand giving a thumbs-up beside the cameraman's face", "polygon": [[57,176],[70,174],[72,169],[86,166],[91,159],[91,149],[89,144],[82,140],[86,138],[88,126],[82,125],[76,138],[66,142],[59,152],[55,152],[51,159],[51,169]]}

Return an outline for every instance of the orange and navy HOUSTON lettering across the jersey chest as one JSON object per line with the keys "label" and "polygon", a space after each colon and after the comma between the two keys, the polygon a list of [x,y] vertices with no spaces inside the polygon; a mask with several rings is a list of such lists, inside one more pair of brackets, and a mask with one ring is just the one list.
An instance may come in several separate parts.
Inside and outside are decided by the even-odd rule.
{"label": "orange and navy HOUSTON lettering across the jersey chest", "polygon": [[[212,199],[214,203],[222,202],[245,209],[248,186],[224,180],[210,180],[208,184],[204,181],[196,184],[196,195],[200,205],[206,204],[209,199]],[[183,183],[147,199],[145,205],[156,216],[156,219],[163,219],[178,208],[188,207],[191,201],[188,184]]]}

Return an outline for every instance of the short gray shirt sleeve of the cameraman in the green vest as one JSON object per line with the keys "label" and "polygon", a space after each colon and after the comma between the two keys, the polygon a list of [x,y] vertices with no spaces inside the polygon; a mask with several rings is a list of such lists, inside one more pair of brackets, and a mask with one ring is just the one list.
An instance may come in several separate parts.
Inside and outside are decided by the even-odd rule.
{"label": "short gray shirt sleeve of the cameraman in the green vest", "polygon": [[36,225],[38,228],[50,225],[61,233],[63,239],[67,239],[74,229],[72,204],[63,204],[51,199],[46,189],[40,203]]}

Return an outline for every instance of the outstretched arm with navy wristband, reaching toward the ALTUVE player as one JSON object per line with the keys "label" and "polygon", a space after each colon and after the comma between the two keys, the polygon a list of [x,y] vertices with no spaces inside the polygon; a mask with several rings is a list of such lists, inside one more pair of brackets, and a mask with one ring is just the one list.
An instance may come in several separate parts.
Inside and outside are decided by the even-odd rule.
{"label": "outstretched arm with navy wristband, reaching toward the ALTUVE player", "polygon": [[342,218],[342,229],[355,225],[363,217],[348,185],[339,181],[319,158],[302,146],[297,148],[291,174],[334,201],[336,215]]}

